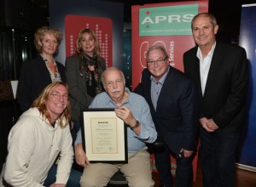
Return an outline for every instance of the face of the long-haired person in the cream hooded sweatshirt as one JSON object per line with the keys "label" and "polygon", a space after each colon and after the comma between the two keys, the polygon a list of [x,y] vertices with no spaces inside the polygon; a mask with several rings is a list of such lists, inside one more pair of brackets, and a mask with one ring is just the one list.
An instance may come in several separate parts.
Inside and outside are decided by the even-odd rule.
{"label": "face of the long-haired person in the cream hooded sweatshirt", "polygon": [[66,109],[68,104],[67,88],[63,85],[58,85],[49,93],[49,99],[46,102],[46,109],[49,112],[50,118],[55,121],[62,112]]}

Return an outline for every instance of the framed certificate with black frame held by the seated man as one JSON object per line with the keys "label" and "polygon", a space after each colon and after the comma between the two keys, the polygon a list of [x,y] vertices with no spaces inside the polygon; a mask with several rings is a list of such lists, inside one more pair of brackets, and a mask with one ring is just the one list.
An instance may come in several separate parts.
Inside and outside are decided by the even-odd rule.
{"label": "framed certificate with black frame held by the seated man", "polygon": [[114,109],[82,111],[84,151],[91,163],[127,163],[127,128]]}

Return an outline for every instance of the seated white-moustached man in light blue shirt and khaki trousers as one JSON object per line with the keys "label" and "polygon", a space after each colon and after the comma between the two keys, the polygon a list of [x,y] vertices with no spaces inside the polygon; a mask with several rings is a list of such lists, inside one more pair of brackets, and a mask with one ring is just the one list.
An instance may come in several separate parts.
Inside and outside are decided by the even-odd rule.
{"label": "seated white-moustached man in light blue shirt and khaki trousers", "polygon": [[90,108],[114,108],[116,116],[127,125],[128,163],[90,163],[82,146],[81,131],[75,142],[75,158],[84,173],[82,187],[106,186],[117,171],[124,173],[130,186],[154,186],[150,156],[145,143],[153,143],[157,138],[154,122],[145,99],[125,88],[125,77],[117,68],[108,68],[102,73],[102,83],[106,92],[97,94]]}

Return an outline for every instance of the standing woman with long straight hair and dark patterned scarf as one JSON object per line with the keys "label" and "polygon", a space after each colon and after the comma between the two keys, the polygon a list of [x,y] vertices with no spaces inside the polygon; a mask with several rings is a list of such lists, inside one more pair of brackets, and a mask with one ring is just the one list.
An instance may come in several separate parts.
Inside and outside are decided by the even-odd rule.
{"label": "standing woman with long straight hair and dark patterned scarf", "polygon": [[79,131],[80,110],[88,108],[96,94],[103,91],[101,77],[106,63],[100,53],[96,34],[85,28],[79,32],[75,54],[66,60],[66,79],[75,130],[73,136]]}

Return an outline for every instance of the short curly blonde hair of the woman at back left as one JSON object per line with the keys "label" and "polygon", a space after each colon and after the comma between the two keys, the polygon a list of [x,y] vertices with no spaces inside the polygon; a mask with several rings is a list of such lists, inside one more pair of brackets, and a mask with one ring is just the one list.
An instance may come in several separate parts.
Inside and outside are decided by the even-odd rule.
{"label": "short curly blonde hair of the woman at back left", "polygon": [[43,53],[43,46],[39,45],[38,42],[43,41],[43,37],[46,33],[53,34],[55,36],[55,38],[57,40],[57,47],[56,47],[55,54],[58,54],[59,46],[60,46],[61,40],[62,40],[62,34],[61,34],[61,31],[57,30],[54,27],[49,27],[49,26],[40,27],[34,34],[34,37],[35,37],[34,44],[35,44],[35,47],[37,48],[38,54]]}

